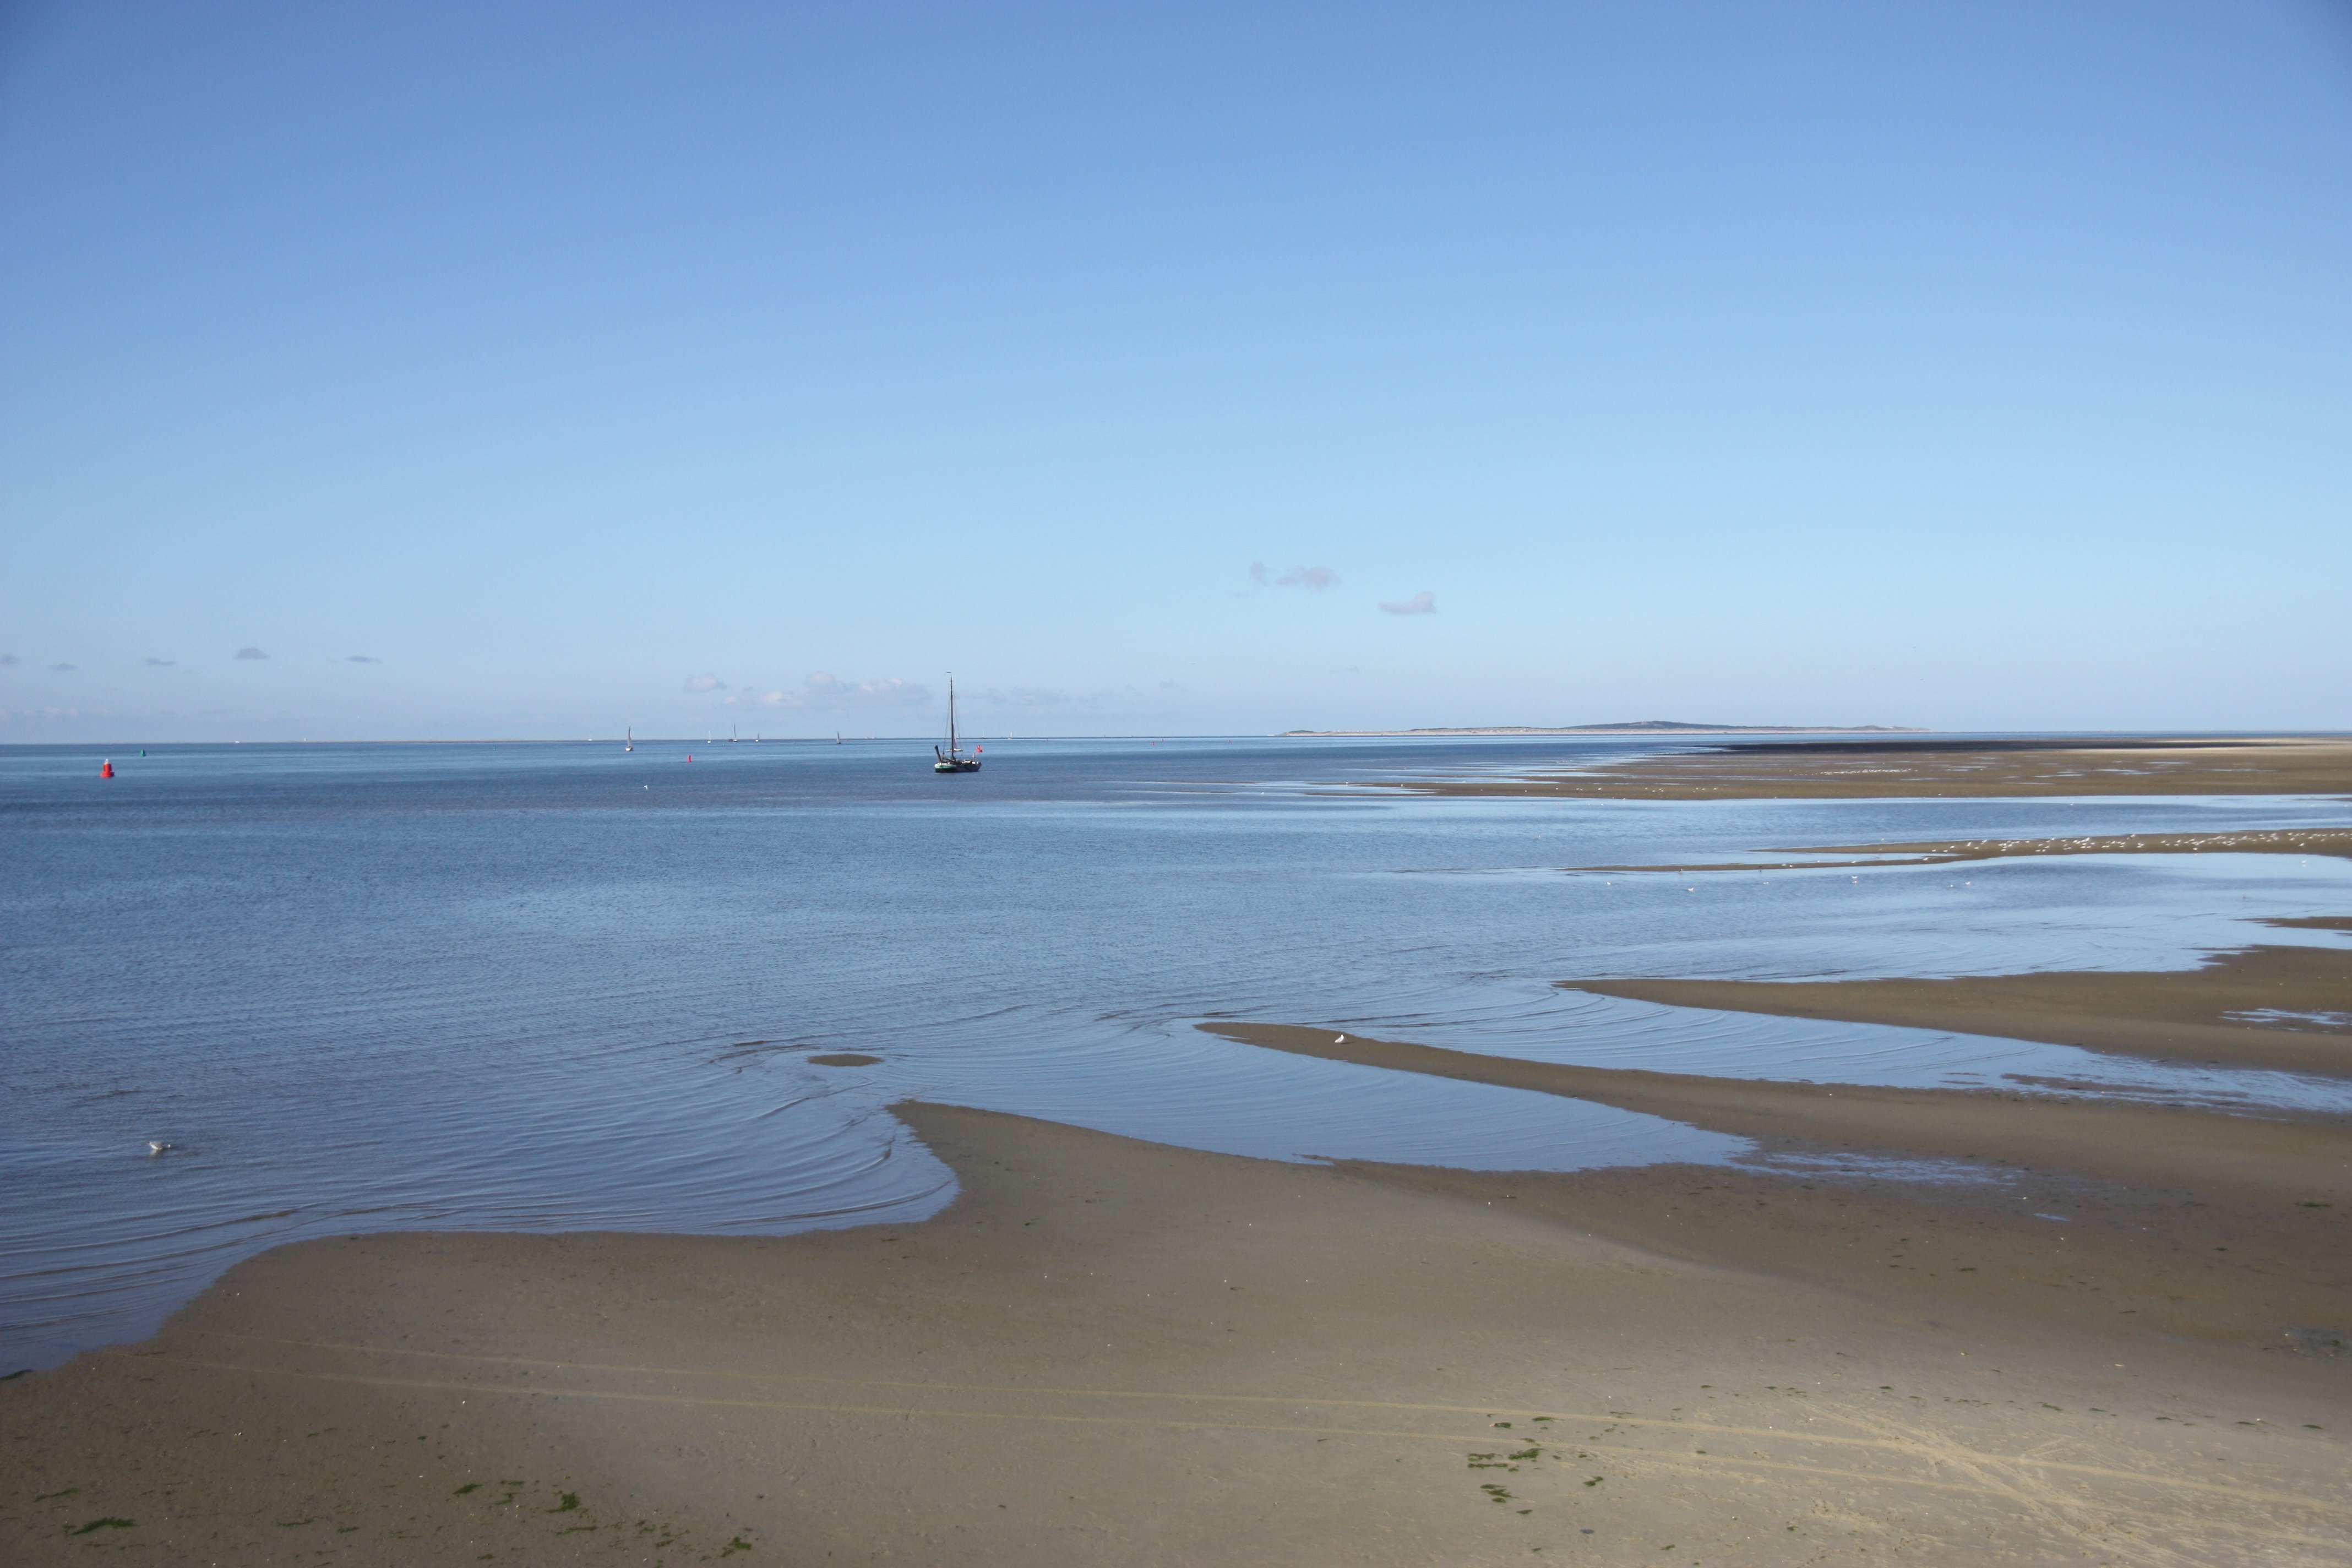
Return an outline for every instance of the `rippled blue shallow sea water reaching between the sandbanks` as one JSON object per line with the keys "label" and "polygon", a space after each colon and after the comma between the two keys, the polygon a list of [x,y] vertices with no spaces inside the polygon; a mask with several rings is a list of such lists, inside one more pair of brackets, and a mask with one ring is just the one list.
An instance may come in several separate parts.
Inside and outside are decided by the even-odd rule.
{"label": "rippled blue shallow sea water reaching between the sandbanks", "polygon": [[[2340,1084],[1691,1013],[1573,976],[2185,966],[2352,865],[2110,856],[1564,875],[1783,844],[2340,823],[2326,802],[1512,802],[1359,785],[1625,741],[0,750],[0,1359],[136,1338],[261,1246],[929,1213],[931,1098],[1272,1159],[1733,1159],[1202,1018],[1884,1084],[2347,1107]],[[687,762],[687,752],[694,762]],[[870,1067],[816,1067],[866,1051]],[[148,1154],[148,1140],[174,1147]]]}

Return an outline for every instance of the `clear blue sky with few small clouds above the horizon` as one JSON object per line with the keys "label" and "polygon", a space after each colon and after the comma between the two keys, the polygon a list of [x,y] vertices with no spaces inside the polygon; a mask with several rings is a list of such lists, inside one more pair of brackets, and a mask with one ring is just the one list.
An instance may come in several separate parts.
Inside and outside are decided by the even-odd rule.
{"label": "clear blue sky with few small clouds above the horizon", "polygon": [[2352,726],[2340,7],[0,16],[0,741]]}

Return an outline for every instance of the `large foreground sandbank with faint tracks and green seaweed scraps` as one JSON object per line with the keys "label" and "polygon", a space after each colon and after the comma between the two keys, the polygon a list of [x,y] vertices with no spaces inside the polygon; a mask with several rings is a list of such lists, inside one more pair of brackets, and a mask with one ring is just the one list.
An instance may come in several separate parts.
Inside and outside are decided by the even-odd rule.
{"label": "large foreground sandbank with faint tracks and green seaweed scraps", "polygon": [[[2152,1246],[2138,1211],[1279,1166],[898,1110],[962,1180],[922,1225],[254,1258],[155,1340],[0,1385],[0,1554],[2352,1556],[2347,1363],[2317,1326],[2126,1316],[2103,1281]],[[2338,1227],[2307,1253],[2345,1253],[2343,1208],[2296,1211]],[[2183,1251],[2152,1293],[2272,1291],[2258,1255]]]}

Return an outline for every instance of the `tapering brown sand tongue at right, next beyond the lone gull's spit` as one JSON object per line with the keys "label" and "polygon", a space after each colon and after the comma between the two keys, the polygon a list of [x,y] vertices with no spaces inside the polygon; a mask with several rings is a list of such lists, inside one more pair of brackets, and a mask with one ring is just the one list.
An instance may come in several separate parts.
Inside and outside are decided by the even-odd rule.
{"label": "tapering brown sand tongue at right, next beyond the lone gull's spit", "polygon": [[[2352,929],[2352,919],[2265,922]],[[1562,980],[1566,990],[1780,1018],[1999,1034],[2223,1067],[2352,1074],[2352,947],[2260,945],[2183,971],[1957,980]],[[2251,1020],[2249,1016],[2267,1016]]]}

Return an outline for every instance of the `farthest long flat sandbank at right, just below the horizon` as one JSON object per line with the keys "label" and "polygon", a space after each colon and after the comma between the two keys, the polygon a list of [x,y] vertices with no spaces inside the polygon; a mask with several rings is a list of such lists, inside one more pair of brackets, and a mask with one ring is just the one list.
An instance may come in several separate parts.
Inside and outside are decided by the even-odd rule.
{"label": "farthest long flat sandbank at right, just below the horizon", "polygon": [[1566,799],[1886,799],[2027,795],[2352,795],[2352,741],[1764,741],[1522,778],[1439,778],[1414,795]]}

